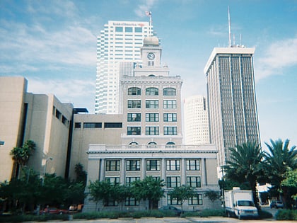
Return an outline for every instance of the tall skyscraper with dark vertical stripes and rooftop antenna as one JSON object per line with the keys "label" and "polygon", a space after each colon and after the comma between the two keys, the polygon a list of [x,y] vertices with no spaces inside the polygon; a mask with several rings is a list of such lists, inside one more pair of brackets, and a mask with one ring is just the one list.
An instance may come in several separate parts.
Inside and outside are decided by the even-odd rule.
{"label": "tall skyscraper with dark vertical stripes and rooftop antenna", "polygon": [[214,48],[204,68],[207,79],[210,143],[218,164],[230,159],[228,148],[260,143],[253,55],[255,48]]}

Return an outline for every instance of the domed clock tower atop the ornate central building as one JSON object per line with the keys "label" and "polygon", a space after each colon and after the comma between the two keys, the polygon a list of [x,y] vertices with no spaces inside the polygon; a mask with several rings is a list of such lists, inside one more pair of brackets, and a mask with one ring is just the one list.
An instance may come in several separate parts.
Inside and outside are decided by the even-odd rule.
{"label": "domed clock tower atop the ornate central building", "polygon": [[161,67],[161,54],[162,47],[156,36],[144,38],[141,47],[142,67],[136,66],[134,76],[168,76],[168,67]]}

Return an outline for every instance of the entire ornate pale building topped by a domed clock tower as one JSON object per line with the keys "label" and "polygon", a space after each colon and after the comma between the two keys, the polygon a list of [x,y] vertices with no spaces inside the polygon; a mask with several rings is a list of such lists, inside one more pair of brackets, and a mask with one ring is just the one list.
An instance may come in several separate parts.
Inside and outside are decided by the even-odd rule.
{"label": "entire ornate pale building topped by a domed clock tower", "polygon": [[[181,185],[189,185],[196,192],[185,202],[185,210],[219,207],[219,200],[213,203],[204,196],[207,190],[219,192],[216,147],[182,144],[182,80],[180,76],[169,76],[168,67],[161,65],[161,55],[158,38],[145,38],[141,47],[142,65],[136,64],[133,76],[122,76],[122,143],[89,145],[88,182],[130,185],[153,176],[165,182],[165,198],[155,208],[180,205],[168,192]],[[146,210],[148,202],[127,198],[124,207]],[[96,205],[86,198],[84,211],[103,208],[119,210],[120,204],[110,199]]]}

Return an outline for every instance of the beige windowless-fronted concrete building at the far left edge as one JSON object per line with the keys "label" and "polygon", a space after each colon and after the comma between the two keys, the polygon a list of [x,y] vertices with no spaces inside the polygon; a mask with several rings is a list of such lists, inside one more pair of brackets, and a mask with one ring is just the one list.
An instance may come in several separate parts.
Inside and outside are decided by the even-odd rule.
{"label": "beige windowless-fronted concrete building at the far left edge", "polygon": [[[28,166],[43,176],[68,173],[69,128],[73,106],[61,103],[52,94],[27,92],[28,82],[21,76],[0,76],[0,181],[9,181],[16,166],[10,155],[28,139],[36,150]],[[52,158],[50,160],[49,158]]]}

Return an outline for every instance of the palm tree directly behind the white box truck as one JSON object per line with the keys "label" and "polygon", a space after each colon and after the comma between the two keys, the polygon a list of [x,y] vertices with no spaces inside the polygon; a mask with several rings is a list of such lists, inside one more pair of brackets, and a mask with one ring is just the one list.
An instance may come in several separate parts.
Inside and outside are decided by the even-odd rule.
{"label": "palm tree directly behind the white box truck", "polygon": [[226,161],[226,166],[223,167],[226,178],[239,183],[248,183],[257,205],[256,183],[262,172],[261,164],[264,156],[260,145],[256,142],[246,142],[229,149],[231,160]]}

